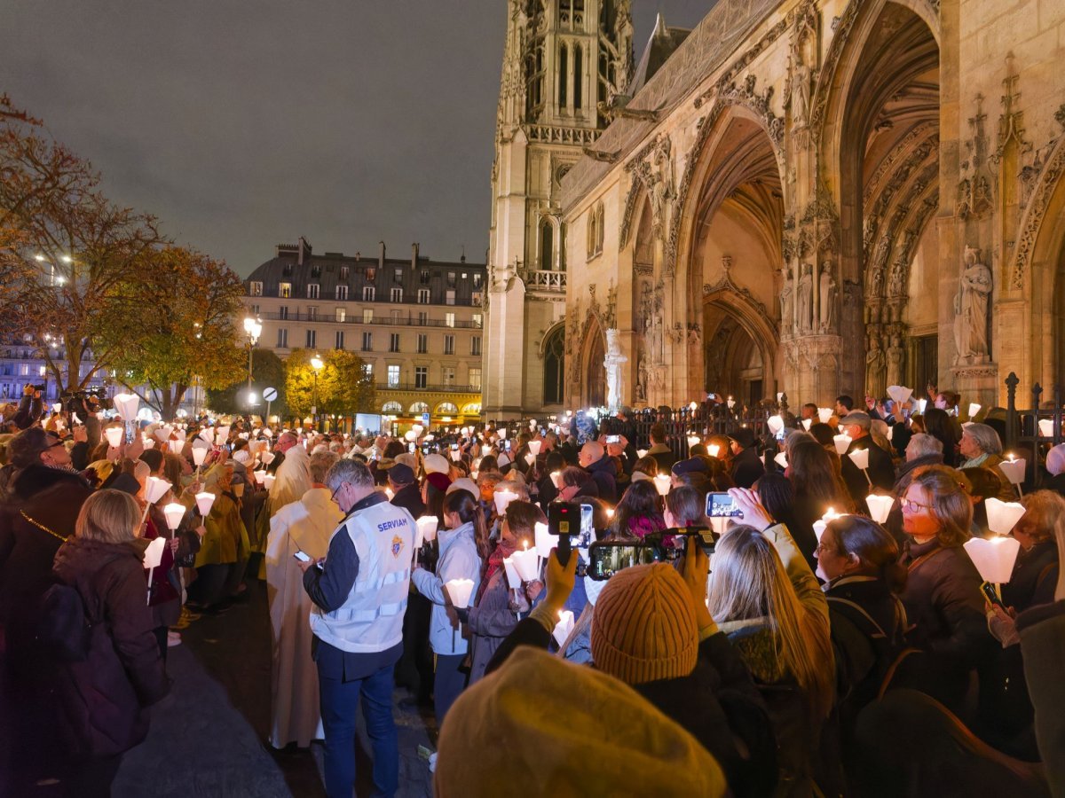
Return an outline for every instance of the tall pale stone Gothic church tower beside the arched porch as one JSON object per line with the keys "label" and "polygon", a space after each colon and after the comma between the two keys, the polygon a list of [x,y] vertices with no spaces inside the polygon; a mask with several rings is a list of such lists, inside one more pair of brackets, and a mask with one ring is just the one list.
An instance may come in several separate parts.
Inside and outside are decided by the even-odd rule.
{"label": "tall pale stone Gothic church tower beside the arched porch", "polygon": [[629,7],[629,0],[508,2],[485,299],[490,419],[562,409],[567,231],[559,183],[628,85]]}

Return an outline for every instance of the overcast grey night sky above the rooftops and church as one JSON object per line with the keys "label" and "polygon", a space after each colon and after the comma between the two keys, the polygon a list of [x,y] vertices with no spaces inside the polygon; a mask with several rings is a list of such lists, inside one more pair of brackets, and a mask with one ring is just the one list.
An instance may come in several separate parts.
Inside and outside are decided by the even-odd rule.
{"label": "overcast grey night sky above the rooftops and church", "polygon": [[[633,5],[638,59],[657,12],[712,2]],[[241,275],[299,235],[480,262],[505,26],[504,0],[7,0],[0,93]]]}

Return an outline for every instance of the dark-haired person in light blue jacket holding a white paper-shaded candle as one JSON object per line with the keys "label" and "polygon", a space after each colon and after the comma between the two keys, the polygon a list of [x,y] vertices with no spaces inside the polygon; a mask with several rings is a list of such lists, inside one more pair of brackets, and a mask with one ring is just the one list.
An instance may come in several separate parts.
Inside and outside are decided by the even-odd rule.
{"label": "dark-haired person in light blue jacket holding a white paper-shaded candle", "polygon": [[464,491],[449,494],[444,498],[443,514],[444,528],[437,535],[440,556],[436,572],[415,567],[411,573],[414,588],[432,602],[429,643],[437,654],[433,697],[438,724],[443,724],[447,710],[465,687],[466,672],[462,663],[469,651],[445,585],[452,580],[469,579],[476,589],[481,564],[489,553],[485,518],[473,496]]}

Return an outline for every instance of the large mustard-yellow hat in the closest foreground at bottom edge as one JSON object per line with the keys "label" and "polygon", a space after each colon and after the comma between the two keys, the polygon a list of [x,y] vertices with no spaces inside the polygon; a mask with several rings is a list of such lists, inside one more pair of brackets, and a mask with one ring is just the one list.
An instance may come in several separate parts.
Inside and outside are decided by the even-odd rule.
{"label": "large mustard-yellow hat in the closest foreground at bottom edge", "polygon": [[726,785],[714,757],[627,684],[520,646],[447,711],[433,788],[439,798],[703,798]]}

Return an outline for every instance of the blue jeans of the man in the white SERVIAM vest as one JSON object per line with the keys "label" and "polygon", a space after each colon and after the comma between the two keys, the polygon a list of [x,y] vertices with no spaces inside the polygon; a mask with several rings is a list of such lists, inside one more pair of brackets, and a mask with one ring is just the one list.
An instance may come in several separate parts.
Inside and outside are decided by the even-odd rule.
{"label": "blue jeans of the man in the white SERVIAM vest", "polygon": [[362,698],[374,755],[374,795],[392,796],[399,788],[399,737],[392,718],[393,666],[363,679],[329,679],[318,664],[322,725],[326,732],[326,794],[351,798],[355,789],[355,712]]}

